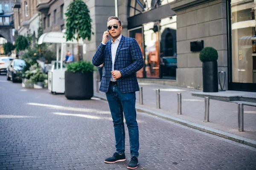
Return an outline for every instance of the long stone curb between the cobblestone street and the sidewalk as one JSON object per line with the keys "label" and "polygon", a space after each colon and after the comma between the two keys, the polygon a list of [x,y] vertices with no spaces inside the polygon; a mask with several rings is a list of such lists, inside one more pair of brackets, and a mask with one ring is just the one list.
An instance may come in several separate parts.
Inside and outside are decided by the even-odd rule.
{"label": "long stone curb between the cobblestone street and the sidewalk", "polygon": [[[93,96],[107,101],[106,97],[102,97],[102,96],[96,95],[96,94],[94,94]],[[156,111],[151,111],[151,110],[142,108],[140,106],[136,106],[135,108],[136,108],[136,111],[138,111],[138,112],[148,113],[148,114],[151,114],[153,116],[157,116],[157,117],[160,117],[160,118],[163,118],[163,119],[166,119],[166,120],[169,120],[169,121],[172,121],[172,122],[175,122],[175,123],[187,126],[187,127],[191,127],[193,129],[196,129],[196,130],[200,130],[200,131],[210,133],[210,134],[215,135],[215,136],[219,136],[219,137],[222,137],[222,138],[225,138],[225,139],[232,140],[234,142],[238,142],[238,143],[245,144],[245,145],[248,145],[250,147],[255,147],[256,148],[256,141],[254,141],[252,139],[247,139],[247,138],[244,138],[244,137],[241,137],[241,136],[238,136],[238,135],[234,135],[232,133],[227,133],[227,132],[224,132],[224,131],[221,131],[221,130],[213,129],[211,127],[207,127],[207,126],[204,126],[204,125],[199,125],[197,123],[189,122],[189,121],[179,119],[179,118],[176,118],[176,117],[173,117],[173,116],[169,116],[169,115],[166,115],[166,114],[163,114],[163,113],[159,113],[159,112],[156,112]]]}

